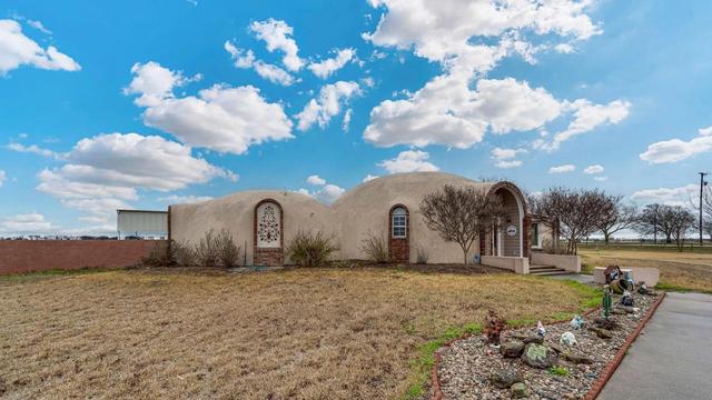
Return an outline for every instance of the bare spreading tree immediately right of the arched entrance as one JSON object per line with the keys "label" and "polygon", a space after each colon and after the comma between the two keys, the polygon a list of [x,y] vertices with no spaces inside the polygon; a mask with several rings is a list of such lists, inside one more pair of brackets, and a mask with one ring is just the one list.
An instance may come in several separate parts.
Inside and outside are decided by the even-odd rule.
{"label": "bare spreading tree immediately right of the arched entrance", "polygon": [[604,211],[610,208],[603,191],[590,189],[551,188],[530,201],[534,213],[558,227],[568,254],[575,254],[581,240],[600,229]]}

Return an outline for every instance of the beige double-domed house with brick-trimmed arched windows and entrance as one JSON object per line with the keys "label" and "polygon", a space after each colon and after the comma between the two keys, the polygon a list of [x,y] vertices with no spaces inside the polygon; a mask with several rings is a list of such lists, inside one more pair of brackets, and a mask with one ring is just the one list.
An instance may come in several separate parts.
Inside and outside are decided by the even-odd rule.
{"label": "beige double-domed house with brick-trimmed arched windows and entrance", "polygon": [[[281,266],[290,262],[285,248],[299,230],[334,234],[340,246],[338,259],[365,259],[359,248],[373,233],[387,239],[395,261],[415,262],[415,249],[419,247],[428,253],[431,263],[462,263],[459,247],[429,230],[418,211],[423,197],[445,184],[475,187],[502,198],[506,217],[475,243],[472,258],[479,256],[485,264],[528,273],[532,218],[522,191],[511,182],[476,182],[443,172],[376,178],[347,191],[332,206],[306,194],[277,190],[250,190],[176,204],[169,208],[169,237],[178,242],[197,242],[210,229],[226,229],[246,250],[247,264]],[[534,247],[541,247],[543,226],[534,228]]]}

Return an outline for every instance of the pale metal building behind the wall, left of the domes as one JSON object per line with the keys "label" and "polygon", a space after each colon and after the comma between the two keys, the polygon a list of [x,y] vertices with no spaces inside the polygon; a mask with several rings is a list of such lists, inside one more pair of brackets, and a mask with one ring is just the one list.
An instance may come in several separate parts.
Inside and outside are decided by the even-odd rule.
{"label": "pale metal building behind the wall, left of the domes", "polygon": [[116,210],[119,239],[166,239],[168,211]]}

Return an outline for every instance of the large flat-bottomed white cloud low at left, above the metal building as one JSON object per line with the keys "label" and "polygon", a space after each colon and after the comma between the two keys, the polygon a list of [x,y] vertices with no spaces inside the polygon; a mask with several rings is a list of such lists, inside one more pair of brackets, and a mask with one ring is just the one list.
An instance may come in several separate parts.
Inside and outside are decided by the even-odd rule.
{"label": "large flat-bottomed white cloud low at left, above the metal building", "polygon": [[138,200],[138,189],[170,191],[237,174],[191,156],[185,144],[158,136],[109,133],[77,142],[57,169],[38,173],[37,189],[66,207],[108,216]]}

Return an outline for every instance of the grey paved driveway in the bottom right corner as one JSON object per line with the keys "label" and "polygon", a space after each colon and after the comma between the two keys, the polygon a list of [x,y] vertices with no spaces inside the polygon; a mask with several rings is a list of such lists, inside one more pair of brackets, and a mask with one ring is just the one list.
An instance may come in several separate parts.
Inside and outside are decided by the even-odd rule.
{"label": "grey paved driveway in the bottom right corner", "polygon": [[668,293],[599,399],[712,399],[712,296]]}

